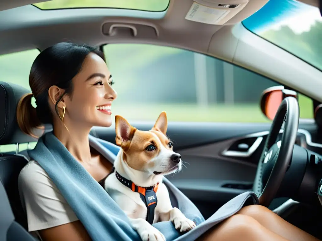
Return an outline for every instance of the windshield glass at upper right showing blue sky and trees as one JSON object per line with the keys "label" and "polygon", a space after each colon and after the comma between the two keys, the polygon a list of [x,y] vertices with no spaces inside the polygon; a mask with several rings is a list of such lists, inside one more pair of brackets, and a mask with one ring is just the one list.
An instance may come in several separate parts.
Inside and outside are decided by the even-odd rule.
{"label": "windshield glass at upper right showing blue sky and trees", "polygon": [[270,0],[242,23],[253,33],[322,70],[322,17],[317,7],[294,0]]}

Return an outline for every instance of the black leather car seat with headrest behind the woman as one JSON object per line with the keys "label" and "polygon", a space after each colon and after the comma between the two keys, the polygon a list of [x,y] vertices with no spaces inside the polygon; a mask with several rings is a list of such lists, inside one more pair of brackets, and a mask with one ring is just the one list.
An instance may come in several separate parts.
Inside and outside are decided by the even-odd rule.
{"label": "black leather car seat with headrest behind the woman", "polygon": [[[16,106],[28,92],[21,86],[0,82],[0,145],[36,141],[22,133],[16,121]],[[27,162],[22,155],[0,153],[0,241],[35,240],[26,231],[27,219],[17,183]]]}

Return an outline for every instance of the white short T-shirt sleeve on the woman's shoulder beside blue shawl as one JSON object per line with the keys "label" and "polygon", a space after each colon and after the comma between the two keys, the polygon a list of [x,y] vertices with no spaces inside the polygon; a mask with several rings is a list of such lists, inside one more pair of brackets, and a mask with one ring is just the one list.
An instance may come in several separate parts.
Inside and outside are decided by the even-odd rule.
{"label": "white short T-shirt sleeve on the woman's shoulder beside blue shawl", "polygon": [[79,220],[38,162],[29,161],[21,170],[18,189],[33,236],[40,239],[37,230]]}

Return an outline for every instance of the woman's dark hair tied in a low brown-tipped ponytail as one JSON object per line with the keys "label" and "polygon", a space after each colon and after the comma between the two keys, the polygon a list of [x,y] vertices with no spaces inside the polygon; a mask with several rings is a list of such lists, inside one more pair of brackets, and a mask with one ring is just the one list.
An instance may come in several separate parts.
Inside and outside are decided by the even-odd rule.
{"label": "woman's dark hair tied in a low brown-tipped ponytail", "polygon": [[[65,90],[64,94],[71,95],[72,79],[80,72],[86,56],[91,52],[105,61],[104,53],[98,48],[73,43],[57,43],[40,52],[33,62],[29,75],[32,94],[25,94],[17,106],[18,125],[24,133],[34,136],[32,132],[34,128],[42,128],[42,124],[53,123],[48,103],[49,88],[56,85]],[[55,106],[58,116],[57,104],[62,96]],[[36,100],[36,108],[31,104],[32,97]]]}

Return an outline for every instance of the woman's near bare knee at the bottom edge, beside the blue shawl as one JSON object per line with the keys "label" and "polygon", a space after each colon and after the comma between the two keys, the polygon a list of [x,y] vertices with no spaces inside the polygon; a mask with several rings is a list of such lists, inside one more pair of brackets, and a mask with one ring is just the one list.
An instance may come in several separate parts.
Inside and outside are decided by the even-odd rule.
{"label": "woman's near bare knee at the bottom edge, beside the blue shawl", "polygon": [[287,241],[250,216],[236,214],[209,230],[197,241]]}

